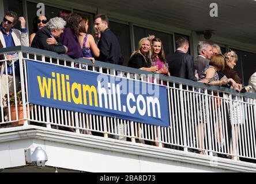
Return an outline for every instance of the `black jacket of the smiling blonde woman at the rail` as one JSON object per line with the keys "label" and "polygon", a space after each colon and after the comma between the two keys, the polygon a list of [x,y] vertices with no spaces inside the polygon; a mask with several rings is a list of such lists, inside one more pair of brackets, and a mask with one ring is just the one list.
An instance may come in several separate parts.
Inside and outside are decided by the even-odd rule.
{"label": "black jacket of the smiling blonde woman at the rail", "polygon": [[131,68],[142,68],[146,67],[149,68],[151,67],[151,62],[150,60],[146,60],[144,56],[142,56],[140,53],[134,53],[134,55],[130,58],[128,62],[128,66]]}

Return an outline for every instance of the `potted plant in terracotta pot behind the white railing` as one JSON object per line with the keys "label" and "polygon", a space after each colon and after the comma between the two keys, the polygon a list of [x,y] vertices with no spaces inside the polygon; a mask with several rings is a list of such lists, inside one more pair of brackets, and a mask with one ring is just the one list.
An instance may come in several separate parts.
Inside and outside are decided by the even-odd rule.
{"label": "potted plant in terracotta pot behind the white railing", "polygon": [[[7,94],[5,94],[5,99],[4,101],[7,102]],[[17,109],[16,109],[16,105],[15,105],[15,95],[14,93],[10,93],[9,94],[9,102],[10,102],[10,117],[9,117],[9,121],[14,121],[11,124],[13,125],[22,125],[24,124],[24,113],[23,113],[23,106],[22,106],[22,93],[21,90],[18,91],[16,93],[16,100],[17,100]],[[29,110],[31,110],[30,108],[31,106],[29,106]],[[9,116],[9,108],[8,106],[4,107],[5,110],[5,114],[7,114],[7,116]],[[16,117],[16,110],[18,113],[18,119]],[[27,110],[27,116],[28,116],[28,110]]]}

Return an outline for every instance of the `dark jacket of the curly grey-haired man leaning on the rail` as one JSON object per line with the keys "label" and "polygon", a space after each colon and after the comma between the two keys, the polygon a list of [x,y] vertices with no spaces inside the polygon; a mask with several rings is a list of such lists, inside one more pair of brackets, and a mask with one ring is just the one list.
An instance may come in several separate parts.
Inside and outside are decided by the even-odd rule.
{"label": "dark jacket of the curly grey-haired man leaning on the rail", "polygon": [[46,39],[50,37],[51,37],[50,30],[46,26],[44,26],[42,29],[37,31],[36,36],[32,41],[31,47],[44,49],[47,51],[52,51],[57,53],[65,53],[66,49],[63,45],[48,45],[46,43]]}

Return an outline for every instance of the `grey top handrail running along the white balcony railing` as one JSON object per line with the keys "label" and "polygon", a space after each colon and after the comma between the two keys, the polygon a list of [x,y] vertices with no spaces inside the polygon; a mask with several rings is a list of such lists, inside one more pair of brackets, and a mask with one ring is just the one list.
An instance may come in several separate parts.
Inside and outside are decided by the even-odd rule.
{"label": "grey top handrail running along the white balcony railing", "polygon": [[[56,52],[46,51],[46,50],[43,50],[43,49],[37,49],[37,48],[32,48],[32,47],[24,47],[24,46],[2,48],[2,49],[0,49],[0,54],[1,53],[6,53],[6,52],[14,52],[14,51],[16,51],[16,52],[25,51],[25,52],[39,53],[41,55],[57,57],[57,58],[63,59],[63,60],[73,60],[73,61],[77,61],[77,62],[92,65],[92,62],[89,59],[85,59],[85,58],[74,59],[74,58],[72,58],[68,55],[65,55],[65,54],[58,54]],[[131,67],[127,67],[127,66],[120,66],[120,65],[117,65],[117,64],[100,62],[100,61],[97,61],[97,60],[95,60],[94,65],[95,66],[106,67],[106,68],[112,68],[112,69],[115,69],[115,70],[121,70],[121,71],[125,71],[125,72],[130,72],[130,73],[134,73],[134,74],[152,75],[152,77],[156,76],[156,74],[154,74],[152,72],[142,71],[142,70],[138,70],[136,68],[131,68]],[[224,92],[224,93],[229,93],[229,94],[234,94],[234,95],[241,95],[241,96],[249,97],[249,98],[256,98],[256,94],[253,94],[253,93],[248,93],[248,92],[239,93],[236,90],[232,90],[232,89],[229,89],[227,87],[210,86],[210,85],[206,85],[205,83],[195,82],[195,81],[191,81],[189,79],[178,78],[178,77],[175,77],[175,76],[166,76],[166,75],[163,75],[163,74],[159,74],[157,76],[157,79],[163,79],[164,81],[175,82],[175,83],[182,83],[184,85],[200,87],[200,88],[204,88],[204,89],[219,91],[219,92],[222,92],[222,93]]]}

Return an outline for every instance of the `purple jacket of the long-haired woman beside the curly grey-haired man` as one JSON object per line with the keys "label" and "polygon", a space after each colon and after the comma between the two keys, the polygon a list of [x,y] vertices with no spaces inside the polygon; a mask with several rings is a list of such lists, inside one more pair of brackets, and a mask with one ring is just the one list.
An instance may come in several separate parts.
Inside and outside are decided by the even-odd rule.
{"label": "purple jacket of the long-haired woman beside the curly grey-haired man", "polygon": [[82,57],[81,45],[77,36],[73,34],[70,28],[65,28],[61,37],[61,44],[67,47],[67,55],[73,58]]}

